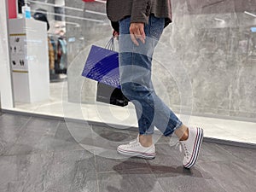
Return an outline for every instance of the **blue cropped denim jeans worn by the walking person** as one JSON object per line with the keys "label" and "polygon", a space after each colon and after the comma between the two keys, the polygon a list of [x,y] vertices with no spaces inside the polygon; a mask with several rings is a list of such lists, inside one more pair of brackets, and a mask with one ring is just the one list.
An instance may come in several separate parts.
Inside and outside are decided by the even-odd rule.
{"label": "blue cropped denim jeans worn by the walking person", "polygon": [[182,122],[156,95],[151,81],[152,56],[163,32],[165,19],[150,15],[148,25],[144,26],[145,44],[139,42],[139,46],[131,41],[130,23],[131,17],[119,21],[121,90],[135,105],[140,135],[153,134],[155,126],[169,136]]}

